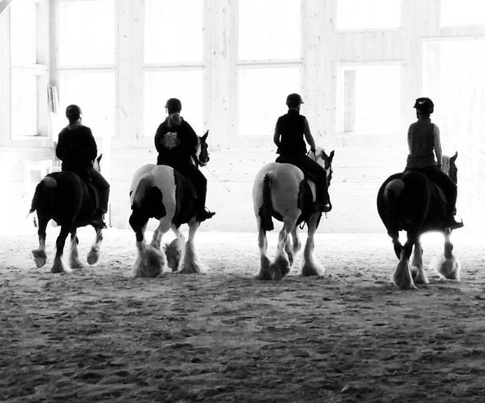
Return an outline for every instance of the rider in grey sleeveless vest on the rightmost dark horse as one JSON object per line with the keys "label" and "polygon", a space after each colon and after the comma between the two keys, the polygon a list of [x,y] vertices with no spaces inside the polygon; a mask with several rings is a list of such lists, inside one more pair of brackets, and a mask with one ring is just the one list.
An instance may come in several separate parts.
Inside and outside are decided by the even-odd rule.
{"label": "rider in grey sleeveless vest on the rightmost dark horse", "polygon": [[[454,217],[457,197],[456,184],[441,170],[442,148],[440,129],[437,125],[431,123],[429,117],[434,111],[434,104],[431,99],[422,97],[416,99],[413,108],[416,109],[416,117],[418,120],[409,126],[409,155],[405,171],[420,171],[440,186],[448,200],[447,226],[450,228],[463,227],[463,223],[457,222]],[[437,161],[434,160],[433,151]]]}

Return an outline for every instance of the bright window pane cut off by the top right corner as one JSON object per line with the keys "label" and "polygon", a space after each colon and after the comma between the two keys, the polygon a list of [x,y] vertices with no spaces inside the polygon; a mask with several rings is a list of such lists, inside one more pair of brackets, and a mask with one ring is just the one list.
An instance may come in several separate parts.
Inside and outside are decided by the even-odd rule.
{"label": "bright window pane cut off by the top right corner", "polygon": [[441,0],[441,25],[485,24],[483,0]]}

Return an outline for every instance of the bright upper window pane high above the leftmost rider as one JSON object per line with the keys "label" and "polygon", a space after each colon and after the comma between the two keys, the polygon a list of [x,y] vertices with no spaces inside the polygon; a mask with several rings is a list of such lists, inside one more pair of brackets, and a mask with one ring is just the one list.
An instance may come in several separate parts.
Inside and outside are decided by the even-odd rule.
{"label": "bright upper window pane high above the leftmost rider", "polygon": [[59,7],[59,63],[112,64],[115,61],[113,0],[61,2]]}

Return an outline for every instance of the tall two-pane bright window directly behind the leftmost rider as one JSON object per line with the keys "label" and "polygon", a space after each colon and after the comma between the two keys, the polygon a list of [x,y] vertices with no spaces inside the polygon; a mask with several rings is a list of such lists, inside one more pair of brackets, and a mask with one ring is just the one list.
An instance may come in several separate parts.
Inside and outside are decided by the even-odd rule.
{"label": "tall two-pane bright window directly behind the leftmost rider", "polygon": [[116,63],[113,0],[59,2],[59,113],[53,131],[66,124],[70,104],[94,136],[115,135]]}

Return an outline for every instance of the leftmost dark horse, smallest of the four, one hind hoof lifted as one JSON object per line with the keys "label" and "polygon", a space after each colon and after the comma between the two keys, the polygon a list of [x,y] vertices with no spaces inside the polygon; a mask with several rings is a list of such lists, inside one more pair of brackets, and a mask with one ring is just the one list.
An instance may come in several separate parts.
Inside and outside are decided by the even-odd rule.
{"label": "leftmost dark horse, smallest of the four, one hind hoof lifted", "polygon": [[[100,155],[93,162],[93,167],[100,172]],[[30,213],[37,211],[39,247],[32,250],[37,267],[45,265],[45,228],[52,219],[61,230],[56,240],[56,256],[51,268],[52,273],[71,273],[72,268],[80,269],[83,264],[79,260],[77,244],[79,239],[76,230],[79,227],[92,225],[96,231],[94,243],[87,255],[87,263],[93,265],[100,257],[102,229],[104,226],[95,220],[98,212],[99,196],[95,187],[70,171],[53,172],[44,176],[37,184],[32,198]],[[71,233],[71,250],[69,266],[62,259],[67,235]]]}

